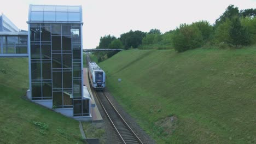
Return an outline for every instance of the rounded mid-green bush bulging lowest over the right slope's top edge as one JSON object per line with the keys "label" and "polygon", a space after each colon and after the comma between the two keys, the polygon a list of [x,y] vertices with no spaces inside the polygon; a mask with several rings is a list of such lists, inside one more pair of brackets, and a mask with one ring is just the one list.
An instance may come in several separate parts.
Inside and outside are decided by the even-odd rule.
{"label": "rounded mid-green bush bulging lowest over the right slope's top edge", "polygon": [[173,35],[173,46],[178,52],[195,49],[202,45],[202,34],[195,25],[182,24]]}

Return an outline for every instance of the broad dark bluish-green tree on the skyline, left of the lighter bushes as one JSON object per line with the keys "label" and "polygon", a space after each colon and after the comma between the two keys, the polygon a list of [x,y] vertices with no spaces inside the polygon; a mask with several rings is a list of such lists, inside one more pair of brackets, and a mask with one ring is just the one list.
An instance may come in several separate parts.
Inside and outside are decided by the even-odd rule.
{"label": "broad dark bluish-green tree on the skyline, left of the lighter bushes", "polygon": [[142,39],[146,36],[145,32],[142,31],[130,31],[123,33],[120,36],[120,40],[124,45],[124,49],[127,50],[130,47],[137,48],[141,43]]}

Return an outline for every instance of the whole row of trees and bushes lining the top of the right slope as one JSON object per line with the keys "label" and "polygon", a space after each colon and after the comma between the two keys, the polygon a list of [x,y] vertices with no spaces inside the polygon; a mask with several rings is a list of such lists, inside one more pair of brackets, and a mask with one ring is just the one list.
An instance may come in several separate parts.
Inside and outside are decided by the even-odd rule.
{"label": "whole row of trees and bushes lining the top of the right slope", "polygon": [[[123,49],[175,49],[183,52],[196,47],[241,47],[256,43],[256,9],[240,10],[229,5],[216,22],[197,21],[190,25],[182,24],[178,28],[162,33],[160,29],[150,29],[149,32],[130,31],[120,35],[120,38],[105,35],[101,37],[97,48],[122,46]],[[114,53],[98,52],[99,61],[111,57]]]}

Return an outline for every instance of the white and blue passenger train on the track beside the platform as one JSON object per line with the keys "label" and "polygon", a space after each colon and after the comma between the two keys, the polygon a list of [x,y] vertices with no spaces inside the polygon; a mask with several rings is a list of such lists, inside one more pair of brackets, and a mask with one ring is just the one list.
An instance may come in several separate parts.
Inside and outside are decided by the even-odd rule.
{"label": "white and blue passenger train on the track beside the platform", "polygon": [[91,86],[97,90],[103,90],[106,87],[105,72],[95,62],[89,62],[88,69]]}

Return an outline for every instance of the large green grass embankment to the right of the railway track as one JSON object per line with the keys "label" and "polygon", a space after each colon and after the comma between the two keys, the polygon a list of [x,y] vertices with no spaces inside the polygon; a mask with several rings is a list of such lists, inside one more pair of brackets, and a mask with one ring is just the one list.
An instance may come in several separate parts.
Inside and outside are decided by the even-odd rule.
{"label": "large green grass embankment to the right of the railway track", "polygon": [[100,66],[114,97],[158,143],[256,143],[255,46],[127,50]]}

